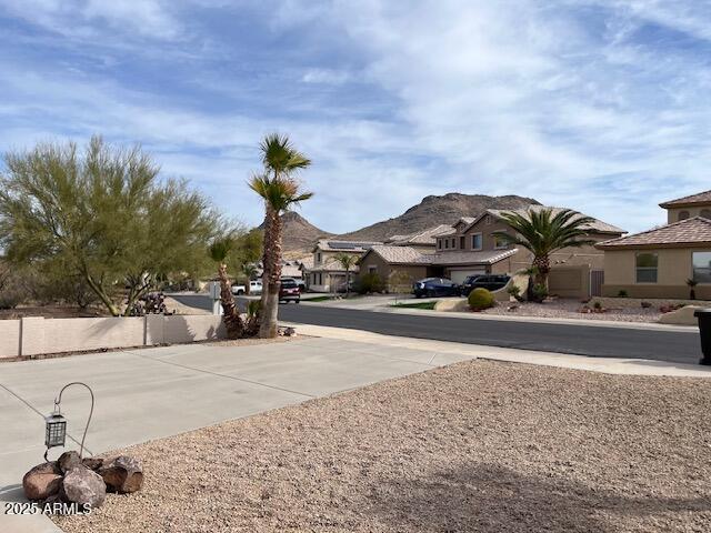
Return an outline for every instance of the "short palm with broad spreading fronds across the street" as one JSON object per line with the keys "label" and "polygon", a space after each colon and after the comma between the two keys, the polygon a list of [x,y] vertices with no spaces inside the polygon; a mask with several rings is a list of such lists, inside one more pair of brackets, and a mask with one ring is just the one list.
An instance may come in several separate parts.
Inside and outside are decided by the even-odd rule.
{"label": "short palm with broad spreading fronds across the street", "polygon": [[595,242],[584,239],[588,235],[584,227],[594,222],[595,219],[570,209],[561,209],[554,214],[551,208],[529,209],[525,213],[509,211],[501,213],[501,218],[514,234],[494,231],[493,237],[529,250],[533,254],[531,266],[535,284],[545,289],[548,289],[548,274],[551,271],[550,255],[553,252]]}

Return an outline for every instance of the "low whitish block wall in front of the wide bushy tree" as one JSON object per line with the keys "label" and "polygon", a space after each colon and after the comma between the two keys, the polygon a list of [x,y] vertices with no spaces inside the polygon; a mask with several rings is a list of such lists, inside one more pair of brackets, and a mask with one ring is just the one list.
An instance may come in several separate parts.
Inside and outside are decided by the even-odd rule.
{"label": "low whitish block wall in front of the wide bushy tree", "polygon": [[0,358],[226,338],[219,315],[0,320]]}

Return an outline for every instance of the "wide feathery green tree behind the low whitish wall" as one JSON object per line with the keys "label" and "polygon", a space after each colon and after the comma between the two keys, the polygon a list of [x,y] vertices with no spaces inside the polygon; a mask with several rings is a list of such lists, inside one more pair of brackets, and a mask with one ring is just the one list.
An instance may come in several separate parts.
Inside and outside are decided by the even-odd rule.
{"label": "wide feathery green tree behind the low whitish wall", "polygon": [[84,150],[39,144],[4,161],[0,248],[9,262],[64,265],[114,316],[156,280],[204,265],[218,214],[184,182],[160,180],[140,147],[93,137]]}

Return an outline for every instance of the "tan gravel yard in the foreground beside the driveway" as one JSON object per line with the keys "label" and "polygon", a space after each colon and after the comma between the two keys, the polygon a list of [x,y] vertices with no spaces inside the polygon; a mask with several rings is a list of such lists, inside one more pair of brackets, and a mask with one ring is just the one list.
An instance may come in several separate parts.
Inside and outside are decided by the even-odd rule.
{"label": "tan gravel yard in the foreground beside the driveway", "polygon": [[128,449],[101,532],[711,531],[711,382],[473,361]]}

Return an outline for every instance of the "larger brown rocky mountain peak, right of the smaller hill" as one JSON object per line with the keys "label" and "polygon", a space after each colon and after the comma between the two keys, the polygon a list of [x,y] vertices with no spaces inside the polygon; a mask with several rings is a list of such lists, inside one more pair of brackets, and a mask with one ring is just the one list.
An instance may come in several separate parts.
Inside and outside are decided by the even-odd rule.
{"label": "larger brown rocky mountain peak, right of the smaller hill", "polygon": [[488,197],[450,192],[441,197],[430,195],[424,197],[420,203],[408,209],[400,217],[343,233],[339,238],[382,241],[391,235],[414,233],[438,224],[453,224],[461,217],[475,217],[485,209],[522,209],[531,204],[540,204],[540,202],[515,194]]}

